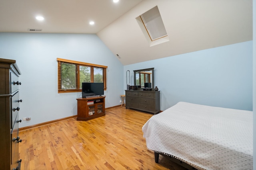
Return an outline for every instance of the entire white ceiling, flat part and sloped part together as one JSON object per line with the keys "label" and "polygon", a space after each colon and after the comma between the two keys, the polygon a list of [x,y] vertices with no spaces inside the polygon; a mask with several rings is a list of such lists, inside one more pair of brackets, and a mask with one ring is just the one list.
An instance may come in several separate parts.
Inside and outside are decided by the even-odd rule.
{"label": "entire white ceiling, flat part and sloped part together", "polygon": [[[154,6],[169,41],[150,47],[136,18]],[[0,0],[0,32],[28,28],[96,33],[127,65],[252,40],[252,0]]]}

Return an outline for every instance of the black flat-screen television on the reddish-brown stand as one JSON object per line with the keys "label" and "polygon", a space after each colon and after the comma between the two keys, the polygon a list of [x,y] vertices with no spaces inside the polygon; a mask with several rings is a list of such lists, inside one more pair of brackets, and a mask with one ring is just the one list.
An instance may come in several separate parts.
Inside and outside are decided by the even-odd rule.
{"label": "black flat-screen television on the reddish-brown stand", "polygon": [[86,83],[82,82],[82,98],[88,96],[101,96],[104,95],[103,83]]}

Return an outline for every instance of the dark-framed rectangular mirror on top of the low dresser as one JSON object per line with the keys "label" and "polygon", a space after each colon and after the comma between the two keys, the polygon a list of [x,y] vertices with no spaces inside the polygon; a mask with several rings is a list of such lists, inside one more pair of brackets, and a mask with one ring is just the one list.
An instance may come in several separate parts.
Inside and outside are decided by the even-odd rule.
{"label": "dark-framed rectangular mirror on top of the low dresser", "polygon": [[134,86],[141,86],[141,88],[154,88],[154,68],[133,71]]}

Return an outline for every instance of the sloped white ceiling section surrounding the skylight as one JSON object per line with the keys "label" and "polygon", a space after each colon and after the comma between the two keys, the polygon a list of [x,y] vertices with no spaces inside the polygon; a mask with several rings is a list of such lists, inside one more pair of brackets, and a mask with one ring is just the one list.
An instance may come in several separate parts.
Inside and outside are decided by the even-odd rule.
{"label": "sloped white ceiling section surrounding the skylight", "polygon": [[[150,47],[136,18],[158,6],[170,41]],[[97,35],[124,65],[252,40],[252,0],[143,0]]]}

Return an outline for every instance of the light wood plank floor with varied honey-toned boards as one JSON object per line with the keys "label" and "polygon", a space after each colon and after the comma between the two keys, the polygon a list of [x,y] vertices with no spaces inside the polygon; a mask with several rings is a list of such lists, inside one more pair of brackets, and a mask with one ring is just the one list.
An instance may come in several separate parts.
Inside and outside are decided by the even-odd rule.
{"label": "light wood plank floor with varied honey-toned boards", "polygon": [[150,113],[115,107],[89,121],[76,118],[20,132],[22,170],[185,170],[146,148]]}

